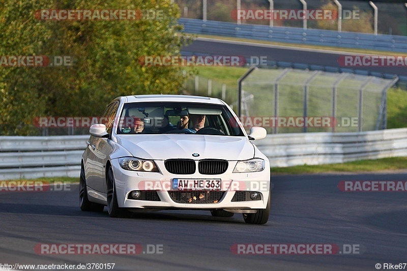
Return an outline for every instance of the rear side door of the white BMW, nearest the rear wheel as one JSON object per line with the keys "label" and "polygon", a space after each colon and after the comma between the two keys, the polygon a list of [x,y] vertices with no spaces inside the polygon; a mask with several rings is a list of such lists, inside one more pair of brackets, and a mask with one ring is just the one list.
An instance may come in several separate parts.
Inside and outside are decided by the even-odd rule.
{"label": "rear side door of the white BMW, nearest the rear wheel", "polygon": [[[110,114],[114,102],[110,103],[105,111],[103,112],[99,124],[107,124],[108,115]],[[85,177],[86,177],[86,185],[96,190],[98,192],[104,192],[104,185],[101,180],[103,178],[103,164],[101,157],[103,154],[100,152],[99,144],[100,139],[95,136],[91,136],[89,138],[87,149],[86,149],[86,159],[84,160],[85,165]]]}

